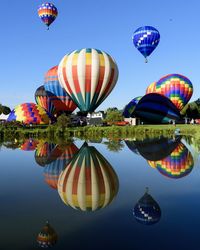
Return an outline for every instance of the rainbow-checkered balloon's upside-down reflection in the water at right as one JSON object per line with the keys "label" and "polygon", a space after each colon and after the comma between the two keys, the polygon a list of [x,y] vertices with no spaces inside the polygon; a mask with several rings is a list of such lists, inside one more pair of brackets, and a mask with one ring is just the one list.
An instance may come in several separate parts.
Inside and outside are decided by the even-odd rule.
{"label": "rainbow-checkered balloon's upside-down reflection in the water at right", "polygon": [[183,143],[179,143],[173,152],[159,161],[148,161],[158,171],[170,178],[178,179],[188,175],[194,166],[194,160],[190,151]]}

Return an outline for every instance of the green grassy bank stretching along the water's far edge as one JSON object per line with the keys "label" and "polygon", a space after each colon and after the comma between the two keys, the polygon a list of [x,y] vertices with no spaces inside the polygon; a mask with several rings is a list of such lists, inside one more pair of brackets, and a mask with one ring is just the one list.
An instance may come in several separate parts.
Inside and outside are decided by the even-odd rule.
{"label": "green grassy bank stretching along the water's far edge", "polygon": [[180,129],[183,135],[190,135],[200,139],[200,125],[139,125],[139,126],[108,126],[108,127],[73,127],[60,128],[55,126],[33,126],[19,128],[15,126],[0,126],[1,140],[10,138],[71,138],[98,139],[98,138],[143,138],[146,136],[172,136],[175,129]]}

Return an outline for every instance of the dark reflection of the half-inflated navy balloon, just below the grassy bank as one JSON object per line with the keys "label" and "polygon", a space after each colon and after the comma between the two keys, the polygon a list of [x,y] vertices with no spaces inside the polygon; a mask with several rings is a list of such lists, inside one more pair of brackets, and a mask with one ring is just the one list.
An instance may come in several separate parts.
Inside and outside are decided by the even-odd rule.
{"label": "dark reflection of the half-inflated navy balloon, just below the grassy bank", "polygon": [[163,136],[158,138],[146,138],[144,140],[135,140],[134,147],[146,160],[157,161],[170,155],[178,146],[180,140],[180,136],[176,136],[175,138]]}

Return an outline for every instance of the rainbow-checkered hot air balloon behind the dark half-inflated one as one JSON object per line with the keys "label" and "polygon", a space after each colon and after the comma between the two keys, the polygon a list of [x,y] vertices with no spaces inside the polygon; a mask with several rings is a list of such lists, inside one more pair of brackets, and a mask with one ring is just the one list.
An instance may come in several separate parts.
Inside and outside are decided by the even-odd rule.
{"label": "rainbow-checkered hot air balloon behind the dark half-inflated one", "polygon": [[193,94],[191,81],[180,74],[163,76],[156,83],[156,93],[168,97],[178,110],[181,110]]}

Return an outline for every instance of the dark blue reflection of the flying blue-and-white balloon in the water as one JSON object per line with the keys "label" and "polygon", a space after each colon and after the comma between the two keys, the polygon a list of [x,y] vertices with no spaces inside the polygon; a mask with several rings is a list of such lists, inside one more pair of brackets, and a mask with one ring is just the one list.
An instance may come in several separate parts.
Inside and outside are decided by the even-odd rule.
{"label": "dark blue reflection of the flying blue-and-white balloon in the water", "polygon": [[148,188],[135,205],[133,215],[138,222],[145,225],[152,225],[160,220],[161,209],[152,196],[148,194]]}

